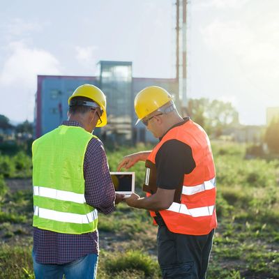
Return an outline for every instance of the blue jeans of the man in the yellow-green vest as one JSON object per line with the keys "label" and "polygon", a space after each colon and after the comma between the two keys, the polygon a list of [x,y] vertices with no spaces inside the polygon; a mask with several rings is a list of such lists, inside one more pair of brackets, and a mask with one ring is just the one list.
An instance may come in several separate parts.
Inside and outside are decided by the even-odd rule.
{"label": "blue jeans of the man in the yellow-green vest", "polygon": [[67,264],[38,264],[32,252],[33,269],[36,279],[95,279],[97,276],[98,255],[89,254]]}

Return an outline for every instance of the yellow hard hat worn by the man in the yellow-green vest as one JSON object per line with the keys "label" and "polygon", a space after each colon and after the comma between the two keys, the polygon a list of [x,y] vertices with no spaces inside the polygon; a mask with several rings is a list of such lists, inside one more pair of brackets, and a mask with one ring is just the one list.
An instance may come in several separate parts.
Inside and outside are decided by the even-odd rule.
{"label": "yellow hard hat worn by the man in the yellow-green vest", "polygon": [[100,109],[103,111],[103,114],[100,116],[100,119],[102,121],[98,120],[96,127],[102,127],[107,124],[107,112],[106,112],[107,100],[102,90],[98,89],[97,86],[94,86],[92,84],[83,84],[77,87],[73,95],[70,96],[70,98],[68,99],[69,105],[70,105],[70,100],[72,100],[72,98],[74,97],[86,97],[93,100],[98,105],[100,105]]}

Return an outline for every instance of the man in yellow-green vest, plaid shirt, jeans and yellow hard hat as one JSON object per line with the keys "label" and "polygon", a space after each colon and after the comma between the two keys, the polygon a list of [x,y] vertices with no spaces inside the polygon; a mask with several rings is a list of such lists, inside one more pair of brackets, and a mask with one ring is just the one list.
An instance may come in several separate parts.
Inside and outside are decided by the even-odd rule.
{"label": "man in yellow-green vest, plaid shirt, jeans and yellow hard hat", "polygon": [[68,121],[33,142],[33,268],[36,278],[96,278],[98,212],[115,194],[103,143],[105,94],[91,84],[68,99]]}

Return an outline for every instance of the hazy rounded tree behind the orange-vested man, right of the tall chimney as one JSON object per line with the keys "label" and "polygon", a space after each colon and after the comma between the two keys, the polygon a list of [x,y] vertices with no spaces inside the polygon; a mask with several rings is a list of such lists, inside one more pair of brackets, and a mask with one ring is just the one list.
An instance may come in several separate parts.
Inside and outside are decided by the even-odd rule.
{"label": "hazy rounded tree behind the orange-vested man, right of the tall chimney", "polygon": [[221,100],[190,99],[188,114],[193,121],[204,127],[207,133],[216,136],[222,135],[225,128],[239,124],[239,113],[232,103]]}

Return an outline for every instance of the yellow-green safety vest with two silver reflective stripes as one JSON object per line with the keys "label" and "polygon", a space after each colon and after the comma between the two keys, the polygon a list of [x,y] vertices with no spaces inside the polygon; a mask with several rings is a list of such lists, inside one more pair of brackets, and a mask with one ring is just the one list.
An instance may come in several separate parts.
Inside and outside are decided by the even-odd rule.
{"label": "yellow-green safety vest with two silver reflective stripes", "polygon": [[61,125],[33,142],[33,227],[63,234],[97,229],[98,211],[84,198],[84,154],[92,137]]}

